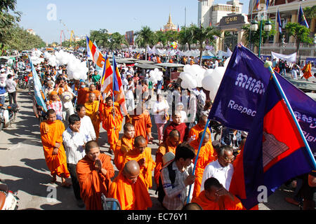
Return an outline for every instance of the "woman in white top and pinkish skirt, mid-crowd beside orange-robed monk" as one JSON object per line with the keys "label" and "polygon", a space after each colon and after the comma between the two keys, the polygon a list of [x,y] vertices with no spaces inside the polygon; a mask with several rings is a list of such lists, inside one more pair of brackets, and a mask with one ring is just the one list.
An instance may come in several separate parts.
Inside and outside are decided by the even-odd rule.
{"label": "woman in white top and pinkish skirt, mid-crowd beside orange-robed monk", "polygon": [[166,115],[168,114],[169,105],[162,94],[157,94],[157,102],[154,103],[152,112],[154,113],[154,122],[157,125],[159,144],[163,141],[164,125],[167,123]]}

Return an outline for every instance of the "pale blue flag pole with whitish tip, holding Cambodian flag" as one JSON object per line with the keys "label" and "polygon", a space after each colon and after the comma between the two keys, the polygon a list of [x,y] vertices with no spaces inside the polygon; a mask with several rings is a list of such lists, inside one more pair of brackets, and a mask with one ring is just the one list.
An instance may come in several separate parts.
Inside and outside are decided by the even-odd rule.
{"label": "pale blue flag pole with whitish tip, holding Cambodian flag", "polygon": [[308,142],[306,141],[306,139],[304,137],[301,126],[298,124],[298,120],[296,119],[296,116],[294,115],[294,111],[293,111],[291,105],[289,104],[289,100],[287,99],[287,96],[284,94],[284,91],[282,90],[281,85],[279,85],[279,80],[277,80],[277,77],[275,76],[275,72],[273,71],[271,65],[272,65],[272,62],[265,62],[265,68],[267,68],[270,71],[273,80],[275,80],[275,83],[277,84],[277,88],[279,89],[279,92],[281,93],[281,96],[284,99],[285,104],[287,104],[287,109],[289,109],[289,112],[291,113],[291,116],[294,120],[294,123],[298,129],[298,132],[300,133],[301,138],[303,139],[303,142],[304,142],[306,149],[308,151],[308,155],[310,156],[310,160],[312,162],[312,165],[314,165],[314,169],[316,169],[316,162],[315,162],[314,155],[312,155],[312,151],[310,150],[310,146],[308,145]]}

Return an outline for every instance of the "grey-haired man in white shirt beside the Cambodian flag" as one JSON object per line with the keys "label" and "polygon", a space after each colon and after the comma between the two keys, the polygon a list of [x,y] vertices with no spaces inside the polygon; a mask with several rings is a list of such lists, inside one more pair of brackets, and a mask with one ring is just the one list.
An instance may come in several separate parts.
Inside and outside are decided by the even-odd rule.
{"label": "grey-haired man in white shirt beside the Cambodian flag", "polygon": [[201,192],[204,190],[204,182],[210,177],[218,179],[226,190],[230,189],[230,181],[234,173],[234,167],[232,166],[233,159],[232,148],[230,146],[220,146],[218,149],[218,160],[210,162],[204,169]]}

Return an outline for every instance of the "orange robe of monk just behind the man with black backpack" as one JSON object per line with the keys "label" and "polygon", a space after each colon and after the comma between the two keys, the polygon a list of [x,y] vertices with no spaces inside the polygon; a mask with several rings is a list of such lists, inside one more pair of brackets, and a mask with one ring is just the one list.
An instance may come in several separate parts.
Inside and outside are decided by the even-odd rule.
{"label": "orange robe of monk just behind the man with black backpack", "polygon": [[[180,143],[179,143],[180,144]],[[177,146],[171,146],[169,144],[169,139],[166,139],[162,144],[160,144],[159,148],[156,152],[156,167],[154,167],[154,181],[156,182],[156,185],[159,185],[159,176],[160,176],[160,170],[162,169],[162,157],[166,153],[173,153],[176,155],[176,148]]]}

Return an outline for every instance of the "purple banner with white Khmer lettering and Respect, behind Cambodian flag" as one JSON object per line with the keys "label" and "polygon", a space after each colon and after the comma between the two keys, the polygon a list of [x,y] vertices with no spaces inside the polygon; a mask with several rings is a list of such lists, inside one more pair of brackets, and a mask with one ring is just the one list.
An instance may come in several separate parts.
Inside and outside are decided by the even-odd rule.
{"label": "purple banner with white Khmer lettering and Respect, behind Cambodian flag", "polygon": [[[270,80],[270,72],[253,52],[236,46],[209,113],[211,120],[249,132]],[[316,102],[275,73],[312,151],[316,152]]]}

